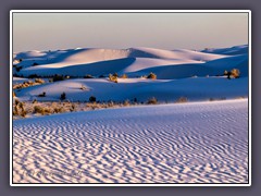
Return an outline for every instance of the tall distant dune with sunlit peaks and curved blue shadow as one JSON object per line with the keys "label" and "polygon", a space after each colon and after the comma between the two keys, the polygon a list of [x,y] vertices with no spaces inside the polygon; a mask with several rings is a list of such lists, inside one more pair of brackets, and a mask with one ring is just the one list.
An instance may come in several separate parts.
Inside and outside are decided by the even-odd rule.
{"label": "tall distant dune with sunlit peaks and curved blue shadow", "polygon": [[[35,56],[34,56],[35,54]],[[14,73],[23,76],[37,74],[50,76],[63,74],[84,76],[91,74],[99,76],[109,73],[132,73],[159,66],[176,64],[202,64],[203,62],[222,59],[226,56],[204,53],[191,50],[162,50],[154,48],[129,49],[77,49],[63,51],[29,51],[14,56],[22,62],[16,65],[23,68]],[[36,66],[33,66],[37,63]],[[148,73],[146,73],[148,74]],[[215,73],[216,74],[216,73]],[[181,75],[181,74],[179,74]]]}

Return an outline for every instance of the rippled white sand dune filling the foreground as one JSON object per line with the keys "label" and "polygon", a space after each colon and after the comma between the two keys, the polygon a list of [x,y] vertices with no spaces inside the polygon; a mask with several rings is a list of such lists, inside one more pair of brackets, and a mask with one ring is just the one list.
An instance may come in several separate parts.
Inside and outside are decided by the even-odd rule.
{"label": "rippled white sand dune filling the foreground", "polygon": [[248,183],[248,100],[15,120],[13,183]]}

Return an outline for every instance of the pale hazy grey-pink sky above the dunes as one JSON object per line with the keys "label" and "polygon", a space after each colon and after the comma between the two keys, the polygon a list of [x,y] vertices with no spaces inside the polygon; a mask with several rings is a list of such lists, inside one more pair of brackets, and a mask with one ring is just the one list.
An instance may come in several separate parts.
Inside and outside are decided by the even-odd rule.
{"label": "pale hazy grey-pink sky above the dunes", "polygon": [[248,44],[248,13],[13,13],[13,51],[225,48]]}

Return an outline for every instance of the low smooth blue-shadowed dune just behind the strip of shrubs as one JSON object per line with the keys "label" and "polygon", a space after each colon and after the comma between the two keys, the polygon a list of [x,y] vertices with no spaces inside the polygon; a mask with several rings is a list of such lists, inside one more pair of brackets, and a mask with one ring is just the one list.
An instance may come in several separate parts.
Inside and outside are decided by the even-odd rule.
{"label": "low smooth blue-shadowed dune just behind the strip of shrubs", "polygon": [[[80,87],[86,89],[82,90]],[[46,97],[38,97],[46,91]],[[21,100],[59,101],[62,93],[71,101],[88,101],[95,96],[99,101],[124,101],[137,99],[147,101],[156,97],[159,101],[175,101],[186,97],[189,101],[232,99],[248,97],[248,77],[227,79],[226,77],[190,77],[184,79],[121,78],[119,83],[105,78],[66,79],[45,85],[32,86],[15,91]]]}

